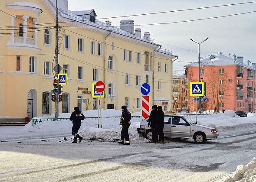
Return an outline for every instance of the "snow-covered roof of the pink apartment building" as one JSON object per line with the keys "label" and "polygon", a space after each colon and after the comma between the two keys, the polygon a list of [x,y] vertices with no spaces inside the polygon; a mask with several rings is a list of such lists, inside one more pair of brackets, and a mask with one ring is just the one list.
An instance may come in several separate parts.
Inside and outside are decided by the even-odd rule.
{"label": "snow-covered roof of the pink apartment building", "polygon": [[[229,58],[225,55],[220,55],[220,54],[214,54],[214,55],[207,56],[206,58],[203,58],[200,60],[200,64],[202,66],[240,65],[240,66],[246,67],[248,69],[255,70],[255,68],[253,68],[250,65],[247,65],[247,64],[244,64],[241,62],[237,62],[233,58]],[[184,68],[195,67],[195,66],[198,66],[198,61],[184,65]]]}

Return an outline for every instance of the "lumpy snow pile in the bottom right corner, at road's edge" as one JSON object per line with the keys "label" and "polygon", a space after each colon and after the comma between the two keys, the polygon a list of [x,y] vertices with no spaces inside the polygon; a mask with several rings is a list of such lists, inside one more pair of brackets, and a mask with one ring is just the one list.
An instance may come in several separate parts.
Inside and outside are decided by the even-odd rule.
{"label": "lumpy snow pile in the bottom right corner, at road's edge", "polygon": [[256,181],[256,157],[246,166],[239,165],[224,182],[255,182]]}

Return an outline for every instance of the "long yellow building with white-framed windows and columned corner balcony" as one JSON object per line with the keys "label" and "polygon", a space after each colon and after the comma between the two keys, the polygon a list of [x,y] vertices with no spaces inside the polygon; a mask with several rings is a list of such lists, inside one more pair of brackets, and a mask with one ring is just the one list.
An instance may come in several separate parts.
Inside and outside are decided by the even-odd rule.
{"label": "long yellow building with white-framed windows and columned corner balcony", "polygon": [[[54,1],[0,1],[0,116],[55,113]],[[177,56],[160,49],[149,32],[142,36],[133,20],[121,20],[119,29],[95,20],[94,10],[68,10],[67,0],[58,0],[58,7],[59,65],[68,75],[59,113],[75,106],[97,109],[92,83],[98,80],[106,85],[102,108],[126,104],[131,112],[140,112],[141,84],[148,82],[150,104],[171,110],[171,62]]]}

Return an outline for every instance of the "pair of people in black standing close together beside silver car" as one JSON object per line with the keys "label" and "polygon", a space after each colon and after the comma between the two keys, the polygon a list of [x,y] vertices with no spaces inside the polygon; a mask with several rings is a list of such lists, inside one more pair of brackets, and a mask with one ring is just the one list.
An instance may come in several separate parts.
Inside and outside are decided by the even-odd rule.
{"label": "pair of people in black standing close together beside silver car", "polygon": [[164,143],[164,112],[162,106],[153,105],[148,119],[152,130],[152,143]]}

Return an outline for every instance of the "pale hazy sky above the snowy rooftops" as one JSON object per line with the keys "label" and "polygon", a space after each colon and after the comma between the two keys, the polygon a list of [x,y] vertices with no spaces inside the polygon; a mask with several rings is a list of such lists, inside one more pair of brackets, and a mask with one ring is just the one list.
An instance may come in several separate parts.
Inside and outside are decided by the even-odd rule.
{"label": "pale hazy sky above the snowy rooftops", "polygon": [[[143,13],[155,13],[190,8],[218,6],[233,3],[253,2],[252,0],[68,0],[69,10],[94,9],[97,18],[126,16]],[[161,13],[144,16],[130,16],[108,18],[112,26],[120,26],[120,20],[134,20],[135,28],[150,32],[150,38],[162,48],[173,51],[179,58],[174,62],[174,72],[184,72],[186,62],[196,62],[198,59],[198,44],[207,37],[209,39],[200,44],[200,57],[207,57],[217,52],[231,58],[233,55],[243,55],[247,60],[256,62],[256,12],[211,20],[200,20],[186,23],[167,25],[136,26],[151,23],[170,23],[184,20],[225,16],[236,13],[245,13],[256,10],[256,3],[216,7],[201,10]]]}

